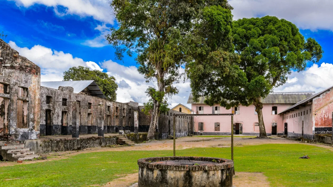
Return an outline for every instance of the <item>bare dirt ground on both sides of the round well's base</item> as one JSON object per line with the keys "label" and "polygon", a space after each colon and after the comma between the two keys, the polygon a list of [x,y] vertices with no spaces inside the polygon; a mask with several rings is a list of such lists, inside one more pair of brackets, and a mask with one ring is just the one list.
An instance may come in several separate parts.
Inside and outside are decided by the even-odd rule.
{"label": "bare dirt ground on both sides of the round well's base", "polygon": [[[104,187],[127,187],[138,182],[138,173],[108,182]],[[234,187],[269,187],[267,177],[262,173],[236,172],[232,184]],[[135,185],[134,185],[135,186]]]}

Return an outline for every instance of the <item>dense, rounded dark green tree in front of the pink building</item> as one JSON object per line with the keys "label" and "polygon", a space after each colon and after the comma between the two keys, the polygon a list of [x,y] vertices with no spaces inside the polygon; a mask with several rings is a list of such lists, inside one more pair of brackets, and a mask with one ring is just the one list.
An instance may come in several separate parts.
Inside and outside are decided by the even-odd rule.
{"label": "dense, rounded dark green tree in front of the pink building", "polygon": [[305,40],[293,23],[272,16],[234,21],[232,37],[239,59],[195,61],[195,66],[188,68],[194,98],[206,96],[205,103],[218,103],[227,109],[253,104],[259,137],[266,137],[262,98],[283,85],[292,71],[303,71],[308,62],[319,62],[322,48],[312,38]]}

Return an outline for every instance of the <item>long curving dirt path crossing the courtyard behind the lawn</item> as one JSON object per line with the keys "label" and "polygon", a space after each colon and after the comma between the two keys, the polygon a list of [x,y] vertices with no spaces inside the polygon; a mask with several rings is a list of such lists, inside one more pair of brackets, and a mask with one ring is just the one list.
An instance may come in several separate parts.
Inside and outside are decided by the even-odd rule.
{"label": "long curving dirt path crossing the courtyard behind the lawn", "polygon": [[[285,138],[274,137],[274,139],[253,139],[253,138],[234,138],[234,146],[243,146],[243,145],[259,145],[267,143],[301,143],[300,141],[288,140]],[[333,151],[332,146],[323,145],[323,144],[311,144],[311,143],[302,143],[307,145],[314,145],[318,147],[327,148]],[[201,138],[201,137],[182,137],[176,139],[176,149],[186,149],[186,148],[195,148],[195,147],[229,147],[231,146],[231,138]],[[173,149],[173,140],[153,140],[146,143],[140,143],[136,146],[118,146],[118,147],[94,147],[84,150],[77,151],[59,151],[59,152],[50,152],[40,154],[41,156],[47,156],[47,160],[34,160],[34,161],[23,161],[23,163],[16,162],[0,162],[0,167],[2,166],[11,166],[17,164],[30,164],[37,162],[45,162],[50,160],[59,160],[69,158],[73,155],[89,152],[102,152],[102,151],[128,151],[128,150],[172,150]]]}

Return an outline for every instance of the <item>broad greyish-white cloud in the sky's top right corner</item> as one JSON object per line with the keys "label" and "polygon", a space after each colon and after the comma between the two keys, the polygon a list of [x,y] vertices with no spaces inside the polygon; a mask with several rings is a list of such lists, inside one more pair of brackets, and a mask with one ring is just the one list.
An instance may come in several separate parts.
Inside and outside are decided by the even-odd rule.
{"label": "broad greyish-white cloud in the sky's top right corner", "polygon": [[331,0],[229,0],[234,19],[261,16],[284,18],[301,29],[333,31]]}

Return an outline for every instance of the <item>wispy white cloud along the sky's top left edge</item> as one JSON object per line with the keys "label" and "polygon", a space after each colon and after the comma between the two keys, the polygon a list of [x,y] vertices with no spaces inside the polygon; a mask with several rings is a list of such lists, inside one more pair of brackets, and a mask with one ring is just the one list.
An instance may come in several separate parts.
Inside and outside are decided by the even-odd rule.
{"label": "wispy white cloud along the sky's top left edge", "polygon": [[[80,17],[92,16],[95,20],[114,24],[114,16],[108,0],[9,0],[15,1],[17,6],[30,7],[34,4],[41,4],[53,7],[58,16],[78,15]],[[65,7],[59,11],[59,6]]]}

